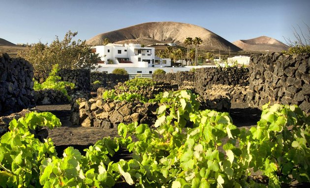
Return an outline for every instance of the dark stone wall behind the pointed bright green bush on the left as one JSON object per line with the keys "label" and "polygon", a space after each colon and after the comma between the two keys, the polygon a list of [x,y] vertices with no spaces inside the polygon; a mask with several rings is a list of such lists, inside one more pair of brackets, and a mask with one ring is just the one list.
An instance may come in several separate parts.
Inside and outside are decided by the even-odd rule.
{"label": "dark stone wall behind the pointed bright green bush on the left", "polygon": [[[50,70],[34,71],[34,79],[39,83],[43,83],[49,76]],[[86,69],[69,70],[63,69],[57,72],[57,75],[62,77],[62,81],[67,81],[75,84],[76,91],[90,91],[91,90],[91,71]]]}

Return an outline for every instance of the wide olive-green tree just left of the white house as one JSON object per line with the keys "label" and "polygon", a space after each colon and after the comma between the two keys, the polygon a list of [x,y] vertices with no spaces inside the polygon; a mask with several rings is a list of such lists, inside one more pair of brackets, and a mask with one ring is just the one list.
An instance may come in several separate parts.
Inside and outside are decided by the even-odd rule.
{"label": "wide olive-green tree just left of the white house", "polygon": [[100,60],[98,54],[93,53],[86,41],[72,41],[76,35],[77,32],[68,31],[62,41],[56,36],[50,45],[31,44],[19,51],[18,56],[29,61],[36,70],[50,70],[56,64],[60,69],[95,69]]}

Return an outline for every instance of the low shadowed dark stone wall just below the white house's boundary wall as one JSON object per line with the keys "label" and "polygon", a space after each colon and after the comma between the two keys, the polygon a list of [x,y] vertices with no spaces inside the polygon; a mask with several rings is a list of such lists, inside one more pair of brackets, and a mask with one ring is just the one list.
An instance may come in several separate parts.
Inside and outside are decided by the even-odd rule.
{"label": "low shadowed dark stone wall just below the white house's boundary wall", "polygon": [[118,83],[129,80],[129,75],[108,74],[105,72],[91,72],[91,83],[99,81],[99,84],[92,84],[91,91],[95,92],[98,88],[113,88]]}

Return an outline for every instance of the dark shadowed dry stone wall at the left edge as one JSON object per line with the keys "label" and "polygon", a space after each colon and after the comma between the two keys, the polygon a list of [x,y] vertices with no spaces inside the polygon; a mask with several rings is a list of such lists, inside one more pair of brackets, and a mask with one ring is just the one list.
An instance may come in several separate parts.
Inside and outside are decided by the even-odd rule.
{"label": "dark shadowed dry stone wall at the left edge", "polygon": [[0,116],[34,106],[32,78],[28,61],[0,56]]}

